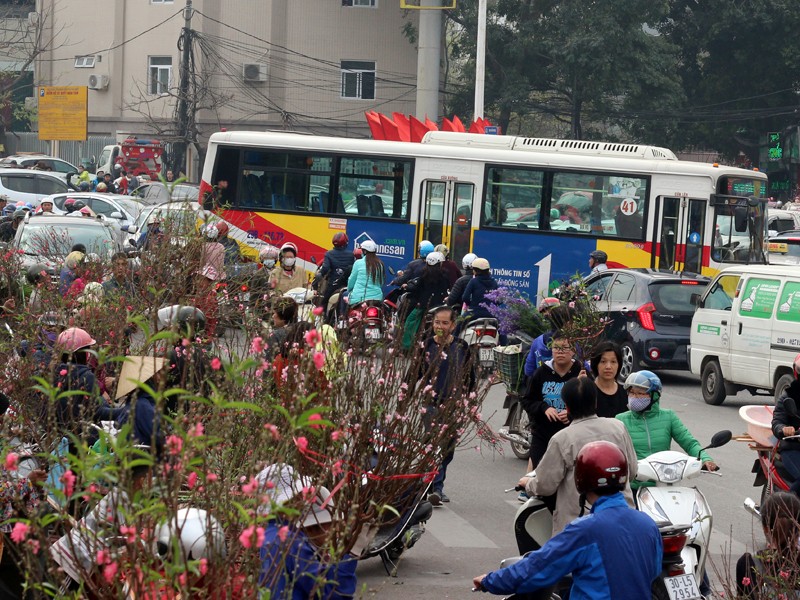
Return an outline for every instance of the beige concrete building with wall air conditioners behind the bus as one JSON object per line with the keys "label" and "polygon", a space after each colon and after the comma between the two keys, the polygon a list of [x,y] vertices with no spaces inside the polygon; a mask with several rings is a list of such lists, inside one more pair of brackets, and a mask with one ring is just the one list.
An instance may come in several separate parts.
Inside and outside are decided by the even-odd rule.
{"label": "beige concrete building with wall air conditioners behind the bus", "polygon": [[[175,120],[186,0],[38,0],[52,15],[36,85],[88,85],[89,133]],[[399,0],[194,0],[190,95],[201,139],[228,129],[368,136],[364,111],[413,113],[417,11]],[[155,125],[154,125],[155,124]]]}

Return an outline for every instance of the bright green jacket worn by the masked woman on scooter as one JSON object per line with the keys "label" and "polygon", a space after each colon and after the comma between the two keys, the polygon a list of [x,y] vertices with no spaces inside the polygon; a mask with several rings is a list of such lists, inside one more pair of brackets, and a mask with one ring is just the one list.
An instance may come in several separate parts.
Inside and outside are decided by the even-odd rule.
{"label": "bright green jacket worn by the masked woman on scooter", "polygon": [[[700,442],[694,439],[694,436],[681,422],[680,417],[674,411],[661,408],[658,402],[654,402],[642,413],[629,410],[617,415],[617,419],[628,428],[633,447],[636,449],[636,457],[639,460],[647,458],[655,452],[669,450],[672,440],[675,440],[689,456],[697,456],[702,448]],[[705,451],[700,452],[700,458],[704,462],[711,460]],[[633,489],[642,485],[647,484],[631,481]]]}

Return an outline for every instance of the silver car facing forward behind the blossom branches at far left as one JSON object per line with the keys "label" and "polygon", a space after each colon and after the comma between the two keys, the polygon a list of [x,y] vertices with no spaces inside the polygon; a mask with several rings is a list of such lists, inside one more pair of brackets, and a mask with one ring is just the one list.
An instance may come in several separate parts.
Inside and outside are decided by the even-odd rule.
{"label": "silver car facing forward behind the blossom branches at far left", "polygon": [[44,264],[60,269],[74,244],[86,246],[88,254],[108,259],[123,249],[119,228],[103,217],[28,215],[14,237],[24,267]]}

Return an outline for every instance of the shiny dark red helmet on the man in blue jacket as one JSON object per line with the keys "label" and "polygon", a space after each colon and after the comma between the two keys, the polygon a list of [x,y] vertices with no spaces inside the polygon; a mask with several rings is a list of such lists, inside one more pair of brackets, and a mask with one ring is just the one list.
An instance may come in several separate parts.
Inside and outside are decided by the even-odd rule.
{"label": "shiny dark red helmet on the man in blue jacket", "polygon": [[616,444],[589,442],[578,452],[575,487],[579,494],[621,492],[627,482],[628,459]]}

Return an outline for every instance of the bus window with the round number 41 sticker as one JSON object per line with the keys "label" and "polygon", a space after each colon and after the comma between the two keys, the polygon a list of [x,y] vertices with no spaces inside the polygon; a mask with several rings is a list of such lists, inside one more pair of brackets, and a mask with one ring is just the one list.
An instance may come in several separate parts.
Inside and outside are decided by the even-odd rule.
{"label": "bus window with the round number 41 sticker", "polygon": [[550,229],[640,240],[647,180],[595,173],[555,173]]}

